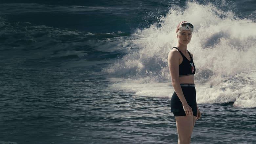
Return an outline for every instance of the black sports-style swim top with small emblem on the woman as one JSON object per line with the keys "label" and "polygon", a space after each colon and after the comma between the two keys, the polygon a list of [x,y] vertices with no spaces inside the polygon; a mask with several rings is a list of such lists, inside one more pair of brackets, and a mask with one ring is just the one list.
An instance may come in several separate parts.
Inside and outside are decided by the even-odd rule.
{"label": "black sports-style swim top with small emblem on the woman", "polygon": [[[173,47],[173,48],[176,48],[176,47]],[[176,49],[178,49],[178,48],[176,48]],[[190,55],[190,52],[188,50],[187,50],[187,52],[188,52],[188,54],[190,56],[190,61],[180,51],[180,53],[181,53],[181,55],[183,57],[183,61],[179,65],[179,76],[194,75],[196,73],[196,67],[194,65],[194,61],[193,61],[193,59],[192,59],[192,57]]]}

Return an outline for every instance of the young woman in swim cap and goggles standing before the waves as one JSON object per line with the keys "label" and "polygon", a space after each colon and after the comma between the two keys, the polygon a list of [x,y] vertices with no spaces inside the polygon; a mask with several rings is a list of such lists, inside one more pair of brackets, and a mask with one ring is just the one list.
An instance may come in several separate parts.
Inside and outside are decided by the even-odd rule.
{"label": "young woman in swim cap and goggles standing before the waves", "polygon": [[168,54],[168,66],[175,91],[171,97],[171,112],[176,119],[178,144],[190,143],[195,121],[201,117],[194,84],[196,68],[193,54],[187,51],[193,29],[191,23],[179,23],[176,29],[178,44]]}

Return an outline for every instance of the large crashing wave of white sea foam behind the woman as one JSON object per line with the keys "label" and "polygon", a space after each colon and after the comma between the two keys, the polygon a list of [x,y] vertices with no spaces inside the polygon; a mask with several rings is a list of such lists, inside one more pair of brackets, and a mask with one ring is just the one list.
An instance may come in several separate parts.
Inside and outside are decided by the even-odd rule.
{"label": "large crashing wave of white sea foam behind the woman", "polygon": [[110,87],[142,96],[170,97],[173,88],[169,87],[167,54],[177,43],[175,28],[183,20],[195,26],[188,51],[194,54],[197,102],[256,107],[256,23],[211,4],[188,2],[185,10],[171,8],[158,24],[135,31],[129,42],[139,49],[104,70],[122,79],[112,78],[115,83]]}

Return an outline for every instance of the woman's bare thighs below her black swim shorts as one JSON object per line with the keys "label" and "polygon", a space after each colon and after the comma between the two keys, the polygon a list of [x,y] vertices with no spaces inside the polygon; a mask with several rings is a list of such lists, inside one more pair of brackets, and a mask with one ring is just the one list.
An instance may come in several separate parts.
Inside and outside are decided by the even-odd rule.
{"label": "woman's bare thighs below her black swim shorts", "polygon": [[194,128],[194,115],[175,116],[177,132],[179,135],[178,144],[189,144]]}

